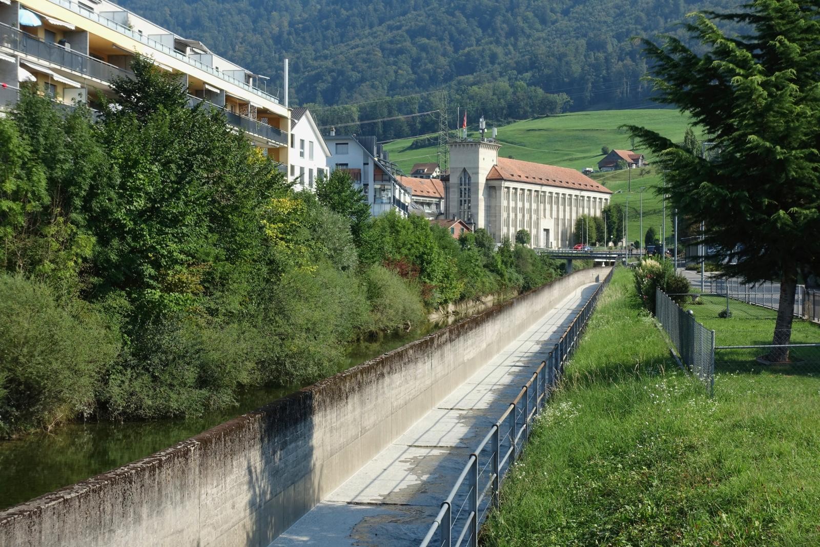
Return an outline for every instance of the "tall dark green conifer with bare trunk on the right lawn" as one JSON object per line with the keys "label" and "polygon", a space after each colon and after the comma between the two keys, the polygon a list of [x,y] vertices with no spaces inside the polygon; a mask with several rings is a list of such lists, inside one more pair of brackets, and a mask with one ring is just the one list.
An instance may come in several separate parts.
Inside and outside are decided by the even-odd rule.
{"label": "tall dark green conifer with bare trunk on the right lawn", "polygon": [[[748,30],[727,37],[717,27],[726,22]],[[820,233],[820,4],[754,0],[742,12],[698,14],[685,29],[697,51],[669,35],[643,44],[658,101],[690,113],[711,159],[629,130],[658,154],[673,206],[705,222],[724,274],[780,280],[772,342],[788,344],[798,276],[820,267],[820,239],[806,237]]]}

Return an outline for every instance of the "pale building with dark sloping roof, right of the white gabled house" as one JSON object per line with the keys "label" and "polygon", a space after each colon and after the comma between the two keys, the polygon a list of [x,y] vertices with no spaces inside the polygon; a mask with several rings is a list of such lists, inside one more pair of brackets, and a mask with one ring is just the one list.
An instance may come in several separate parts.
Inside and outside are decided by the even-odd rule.
{"label": "pale building with dark sloping roof, right of the white gabled house", "polygon": [[402,217],[407,217],[411,207],[411,190],[401,184],[394,175],[389,159],[376,144],[376,137],[339,136],[325,137],[330,157],[327,166],[330,171],[343,169],[353,178],[353,183],[362,189],[370,203],[373,217],[395,209]]}

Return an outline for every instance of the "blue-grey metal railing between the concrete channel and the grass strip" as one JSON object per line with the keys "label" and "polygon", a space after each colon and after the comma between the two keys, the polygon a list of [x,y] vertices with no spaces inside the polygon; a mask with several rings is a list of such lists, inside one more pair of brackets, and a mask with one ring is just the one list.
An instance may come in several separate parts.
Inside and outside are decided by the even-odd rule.
{"label": "blue-grey metal railing between the concrete channel and the grass strip", "polygon": [[497,508],[499,505],[503,478],[512,463],[522,454],[530,437],[532,422],[561,379],[564,362],[576,349],[595,304],[612,275],[613,271],[610,270],[581,308],[581,312],[567,326],[547,358],[467,458],[453,490],[450,490],[447,499],[441,503],[439,514],[430,525],[421,547],[477,545],[481,523],[490,508]]}

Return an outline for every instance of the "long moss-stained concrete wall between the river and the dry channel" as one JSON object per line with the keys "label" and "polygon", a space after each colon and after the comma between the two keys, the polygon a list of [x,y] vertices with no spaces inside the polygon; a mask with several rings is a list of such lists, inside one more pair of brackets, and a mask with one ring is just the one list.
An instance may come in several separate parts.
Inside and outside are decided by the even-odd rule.
{"label": "long moss-stained concrete wall between the river and the dry channel", "polygon": [[517,334],[577,271],[201,435],[0,513],[0,546],[265,546]]}

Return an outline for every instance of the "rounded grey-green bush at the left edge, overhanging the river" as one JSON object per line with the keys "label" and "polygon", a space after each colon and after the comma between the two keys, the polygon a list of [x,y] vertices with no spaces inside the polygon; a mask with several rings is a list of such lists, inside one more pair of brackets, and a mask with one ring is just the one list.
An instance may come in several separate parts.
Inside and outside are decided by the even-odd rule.
{"label": "rounded grey-green bush at the left edge, overhanging the river", "polygon": [[93,413],[120,336],[89,304],[57,305],[47,285],[0,275],[0,437]]}

